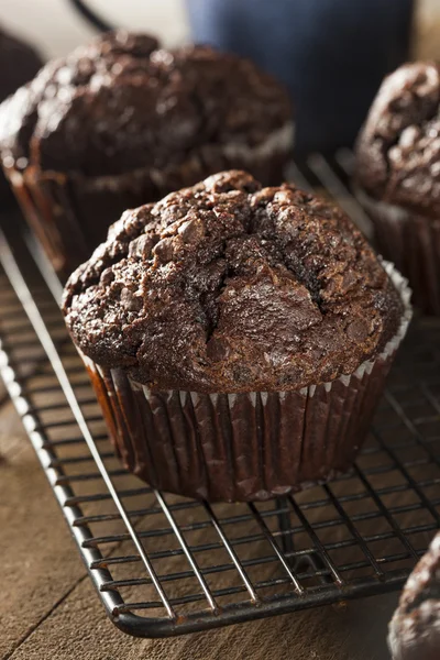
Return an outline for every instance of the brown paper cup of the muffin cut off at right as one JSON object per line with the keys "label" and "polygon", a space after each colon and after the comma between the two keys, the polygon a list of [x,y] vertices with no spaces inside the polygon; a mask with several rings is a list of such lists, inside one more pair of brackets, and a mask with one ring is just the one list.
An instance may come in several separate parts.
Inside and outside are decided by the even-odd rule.
{"label": "brown paper cup of the muffin cut off at right", "polygon": [[378,251],[408,277],[414,305],[440,316],[440,218],[377,201],[363,190],[358,197],[374,224]]}

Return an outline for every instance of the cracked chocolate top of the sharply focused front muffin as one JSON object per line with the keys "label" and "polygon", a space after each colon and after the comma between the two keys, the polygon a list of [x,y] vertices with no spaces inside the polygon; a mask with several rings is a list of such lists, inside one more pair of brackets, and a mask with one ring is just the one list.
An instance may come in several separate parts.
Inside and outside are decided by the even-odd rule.
{"label": "cracked chocolate top of the sharply focused front muffin", "polygon": [[271,392],[355,371],[402,302],[340,210],[231,170],[125,211],[64,314],[86,355],[153,388]]}

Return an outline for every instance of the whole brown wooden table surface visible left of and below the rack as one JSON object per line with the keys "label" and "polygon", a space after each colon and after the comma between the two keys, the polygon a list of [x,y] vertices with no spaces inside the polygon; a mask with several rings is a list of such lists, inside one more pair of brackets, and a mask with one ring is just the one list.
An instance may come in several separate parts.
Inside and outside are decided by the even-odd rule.
{"label": "whole brown wooden table surface visible left of and below the rack", "polygon": [[175,639],[134,639],[105,610],[12,404],[0,394],[2,660],[383,660],[397,595]]}

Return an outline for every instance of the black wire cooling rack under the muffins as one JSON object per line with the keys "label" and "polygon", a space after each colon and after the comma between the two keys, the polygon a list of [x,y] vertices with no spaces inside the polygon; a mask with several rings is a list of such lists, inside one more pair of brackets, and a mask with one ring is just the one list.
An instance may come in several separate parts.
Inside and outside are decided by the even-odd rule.
{"label": "black wire cooling rack under the muffins", "polygon": [[[316,155],[290,176],[367,232],[343,184],[350,166],[350,152],[331,166]],[[440,524],[439,321],[413,323],[350,473],[295,497],[209,505],[121,466],[58,311],[59,283],[3,220],[0,372],[119,628],[178,635],[402,585]]]}

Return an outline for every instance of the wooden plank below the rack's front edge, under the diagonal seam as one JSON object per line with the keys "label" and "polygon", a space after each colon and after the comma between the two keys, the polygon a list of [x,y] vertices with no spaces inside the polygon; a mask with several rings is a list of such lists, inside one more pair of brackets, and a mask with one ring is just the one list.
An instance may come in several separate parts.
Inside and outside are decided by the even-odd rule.
{"label": "wooden plank below the rack's front edge, under the diagonal seam", "polygon": [[359,601],[175,639],[132,639],[107,620],[88,580],[13,653],[13,660],[385,660],[396,597]]}

